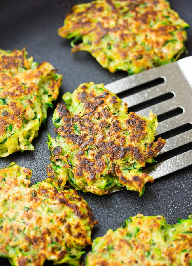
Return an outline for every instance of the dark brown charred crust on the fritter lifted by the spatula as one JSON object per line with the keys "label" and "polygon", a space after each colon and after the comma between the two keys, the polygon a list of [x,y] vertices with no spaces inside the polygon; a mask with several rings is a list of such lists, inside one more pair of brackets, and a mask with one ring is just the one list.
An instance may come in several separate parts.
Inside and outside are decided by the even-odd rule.
{"label": "dark brown charred crust on the fritter lifted by the spatula", "polygon": [[[87,93],[84,89],[85,85],[81,87],[82,92],[77,93],[77,99],[83,104],[85,114],[73,115],[64,103],[59,103],[56,108],[58,116],[62,119],[62,125],[54,129],[61,137],[65,138],[73,149],[78,148],[75,157],[78,161],[77,165],[73,165],[72,173],[75,178],[86,176],[88,181],[95,181],[102,176],[105,169],[105,175],[110,173],[118,177],[119,183],[122,186],[133,185],[140,192],[143,187],[143,180],[153,182],[152,178],[148,178],[147,173],[140,173],[140,176],[133,175],[131,179],[126,179],[122,174],[121,167],[118,166],[117,161],[129,156],[130,161],[137,160],[138,163],[145,166],[145,160],[153,157],[164,146],[165,141],[161,138],[157,142],[151,142],[147,148],[142,151],[142,148],[137,145],[147,134],[146,121],[134,112],[127,113],[125,120],[125,127],[122,128],[118,114],[112,113],[106,108],[106,102],[109,101],[115,105],[118,103],[115,96],[109,96],[109,92],[105,91],[99,96],[95,96],[91,90]],[[119,103],[118,103],[119,104]],[[96,119],[93,122],[92,118]],[[98,119],[98,120],[97,120]],[[108,121],[108,122],[107,122]],[[110,121],[110,122],[109,122]],[[80,135],[77,135],[74,124],[77,125]],[[107,128],[107,132],[106,132]],[[123,130],[129,130],[129,143],[123,135]],[[89,145],[95,146],[95,152],[92,151],[92,159],[86,156],[85,151]],[[62,148],[56,147],[52,151],[56,157],[51,157],[51,160],[57,161],[61,159],[68,164],[67,168],[72,165],[69,164],[67,156],[60,155]],[[106,158],[109,158],[109,168],[107,170]],[[63,166],[64,167],[64,166]],[[49,175],[54,175],[51,167],[47,168]],[[107,172],[106,172],[107,171]],[[62,183],[62,177],[59,177]]]}

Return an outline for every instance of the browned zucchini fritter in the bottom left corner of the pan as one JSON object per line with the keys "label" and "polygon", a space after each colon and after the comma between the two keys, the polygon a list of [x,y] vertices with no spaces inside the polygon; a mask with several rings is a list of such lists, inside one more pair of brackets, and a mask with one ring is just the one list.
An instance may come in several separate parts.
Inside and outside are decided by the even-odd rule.
{"label": "browned zucchini fritter in the bottom left corner of the pan", "polygon": [[0,169],[0,256],[13,266],[79,265],[96,222],[75,190],[56,179],[29,187],[31,171],[11,163]]}

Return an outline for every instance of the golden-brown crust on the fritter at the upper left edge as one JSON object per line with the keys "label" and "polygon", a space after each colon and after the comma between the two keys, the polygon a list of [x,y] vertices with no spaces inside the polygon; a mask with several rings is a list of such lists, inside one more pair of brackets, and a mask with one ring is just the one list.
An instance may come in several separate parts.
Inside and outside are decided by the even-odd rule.
{"label": "golden-brown crust on the fritter at the upper left edge", "polygon": [[[0,98],[6,100],[5,105],[0,106],[0,137],[6,134],[6,125],[16,125],[17,129],[22,129],[24,119],[27,119],[26,106],[32,109],[36,101],[39,101],[39,87],[33,80],[46,76],[47,74],[55,73],[56,70],[52,69],[47,71],[46,62],[39,64],[36,69],[30,69],[29,60],[26,58],[26,49],[15,50],[10,54],[1,55],[0,53]],[[25,69],[24,72],[18,71],[18,68]],[[48,73],[49,72],[49,73]],[[25,83],[23,83],[25,82]],[[48,85],[49,95],[53,99],[58,96],[58,88],[61,85],[61,79],[50,79]],[[19,99],[22,97],[32,97],[26,99],[22,103]],[[6,109],[6,111],[5,111]]]}

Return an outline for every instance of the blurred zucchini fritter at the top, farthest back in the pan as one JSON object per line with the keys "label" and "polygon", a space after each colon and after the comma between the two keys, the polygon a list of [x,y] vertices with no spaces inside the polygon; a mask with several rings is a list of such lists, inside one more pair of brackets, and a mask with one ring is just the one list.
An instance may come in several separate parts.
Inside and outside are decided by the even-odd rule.
{"label": "blurred zucchini fritter at the top, farthest back in the pan", "polygon": [[75,5],[61,37],[72,52],[88,51],[111,72],[138,73],[175,61],[185,51],[185,29],[166,0],[97,0]]}

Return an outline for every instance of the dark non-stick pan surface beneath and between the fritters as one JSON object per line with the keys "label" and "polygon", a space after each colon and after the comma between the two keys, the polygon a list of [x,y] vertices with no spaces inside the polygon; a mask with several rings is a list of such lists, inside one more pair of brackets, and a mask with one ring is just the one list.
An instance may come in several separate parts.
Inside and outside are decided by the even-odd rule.
{"label": "dark non-stick pan surface beneath and between the fritters", "polygon": [[[23,48],[26,46],[28,56],[34,61],[51,63],[58,73],[63,75],[63,84],[56,103],[62,101],[62,94],[73,91],[83,82],[93,81],[104,84],[127,76],[126,72],[110,73],[103,69],[87,52],[70,54],[70,41],[57,35],[57,29],[63,25],[66,12],[77,3],[88,1],[75,0],[1,0],[0,48],[5,50]],[[192,55],[192,1],[171,0],[171,6],[180,17],[191,24],[187,30],[188,54]],[[12,161],[20,166],[33,169],[32,183],[46,178],[46,167],[49,164],[50,151],[45,141],[47,132],[55,136],[52,125],[53,110],[49,110],[47,124],[39,130],[39,136],[34,139],[35,151],[15,153],[0,159],[0,168]],[[192,173],[191,167],[160,178],[154,184],[147,184],[144,196],[131,191],[120,191],[111,195],[98,196],[91,193],[79,192],[92,208],[96,225],[93,239],[102,236],[109,228],[119,227],[128,216],[137,213],[144,215],[161,214],[167,222],[174,223],[178,217],[187,218],[192,214]],[[0,266],[10,265],[7,260],[0,259]],[[46,266],[52,265],[46,262]]]}

